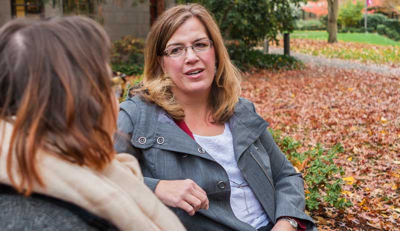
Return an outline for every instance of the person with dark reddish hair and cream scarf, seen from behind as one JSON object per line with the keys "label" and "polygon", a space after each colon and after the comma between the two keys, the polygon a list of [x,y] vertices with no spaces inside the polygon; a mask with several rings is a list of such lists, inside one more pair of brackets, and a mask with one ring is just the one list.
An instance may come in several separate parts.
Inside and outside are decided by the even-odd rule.
{"label": "person with dark reddish hair and cream scarf, seen from behind", "polygon": [[109,49],[86,17],[0,28],[2,231],[185,230],[113,150]]}

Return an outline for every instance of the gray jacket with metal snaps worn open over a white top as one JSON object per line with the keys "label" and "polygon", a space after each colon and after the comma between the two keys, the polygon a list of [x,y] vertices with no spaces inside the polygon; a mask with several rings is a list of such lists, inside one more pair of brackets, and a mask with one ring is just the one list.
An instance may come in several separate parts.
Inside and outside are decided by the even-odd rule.
{"label": "gray jacket with metal snaps worn open over a white top", "polygon": [[[268,123],[254,105],[239,98],[229,118],[238,167],[261,202],[268,218],[280,216],[308,220],[304,213],[304,187],[300,173],[280,152],[267,131]],[[209,209],[193,216],[180,208],[176,213],[187,230],[256,230],[237,219],[230,207],[226,171],[202,147],[180,129],[159,106],[133,96],[120,104],[115,150],[133,154],[140,163],[144,182],[154,191],[159,180],[192,179],[206,193]]]}

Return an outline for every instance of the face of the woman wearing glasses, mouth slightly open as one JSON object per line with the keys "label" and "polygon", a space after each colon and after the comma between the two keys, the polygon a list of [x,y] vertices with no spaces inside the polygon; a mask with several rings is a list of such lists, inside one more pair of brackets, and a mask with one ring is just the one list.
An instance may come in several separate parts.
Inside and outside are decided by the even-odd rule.
{"label": "face of the woman wearing glasses, mouth slightly open", "polygon": [[[191,17],[181,24],[166,43],[165,50],[172,47],[191,46],[194,42],[210,39],[207,30],[199,19]],[[175,87],[172,92],[175,96],[208,96],[215,74],[214,47],[195,52],[187,47],[186,53],[178,57],[161,57],[161,66],[167,73]]]}

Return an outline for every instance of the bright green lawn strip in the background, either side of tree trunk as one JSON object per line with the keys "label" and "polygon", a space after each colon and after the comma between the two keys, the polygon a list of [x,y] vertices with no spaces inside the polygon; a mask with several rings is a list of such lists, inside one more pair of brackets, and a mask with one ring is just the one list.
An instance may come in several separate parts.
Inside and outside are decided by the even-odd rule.
{"label": "bright green lawn strip in the background, either side of tree trunk", "polygon": [[[290,33],[290,37],[325,40],[328,37],[328,33],[321,30],[294,30],[292,33]],[[400,42],[394,41],[377,33],[337,33],[337,40],[364,42],[377,45],[400,45]]]}

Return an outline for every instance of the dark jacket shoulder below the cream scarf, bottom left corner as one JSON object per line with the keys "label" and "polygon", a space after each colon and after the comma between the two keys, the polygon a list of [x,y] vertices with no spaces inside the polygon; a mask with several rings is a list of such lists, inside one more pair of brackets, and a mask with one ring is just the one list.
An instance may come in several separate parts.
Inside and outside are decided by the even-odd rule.
{"label": "dark jacket shoulder below the cream scarf, bottom left corner", "polygon": [[114,231],[115,226],[63,200],[23,196],[0,184],[0,227],[3,231]]}

